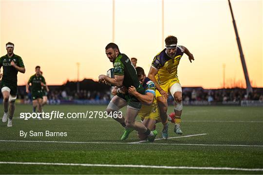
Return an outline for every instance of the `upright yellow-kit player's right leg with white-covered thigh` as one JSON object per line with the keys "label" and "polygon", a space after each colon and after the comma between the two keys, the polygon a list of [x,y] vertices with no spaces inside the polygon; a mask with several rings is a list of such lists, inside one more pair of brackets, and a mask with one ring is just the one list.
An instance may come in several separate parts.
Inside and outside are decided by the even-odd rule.
{"label": "upright yellow-kit player's right leg with white-covered thigh", "polygon": [[181,115],[183,111],[183,102],[182,102],[182,87],[180,83],[175,83],[170,88],[170,93],[173,94],[174,98],[174,132],[176,134],[183,134],[180,123],[181,123]]}

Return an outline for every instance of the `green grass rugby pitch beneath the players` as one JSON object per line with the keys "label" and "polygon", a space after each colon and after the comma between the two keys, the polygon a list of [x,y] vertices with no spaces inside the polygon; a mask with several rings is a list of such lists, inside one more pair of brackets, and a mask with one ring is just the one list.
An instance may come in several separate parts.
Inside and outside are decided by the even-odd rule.
{"label": "green grass rugby pitch beneath the players", "polygon": [[[45,112],[59,110],[64,113],[104,111],[105,108],[94,105],[44,106]],[[172,110],[170,106],[168,112]],[[2,111],[1,106],[0,115]],[[135,144],[131,142],[139,141],[136,132],[121,141],[123,127],[113,119],[19,119],[19,113],[31,111],[31,105],[17,105],[13,127],[0,123],[0,174],[263,174],[262,107],[184,106],[181,126],[185,137],[176,135],[170,123],[169,137],[177,138]],[[162,124],[158,123],[156,129],[159,139]],[[67,136],[19,136],[19,131],[46,130],[67,132]],[[36,165],[36,162],[65,164]],[[147,167],[153,165],[157,167]],[[168,166],[173,168],[168,169]]]}

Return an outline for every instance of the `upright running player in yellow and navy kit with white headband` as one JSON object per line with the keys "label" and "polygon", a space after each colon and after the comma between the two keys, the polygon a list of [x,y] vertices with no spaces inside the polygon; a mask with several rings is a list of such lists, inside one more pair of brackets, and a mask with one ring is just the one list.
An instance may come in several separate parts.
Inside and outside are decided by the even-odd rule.
{"label": "upright running player in yellow and navy kit with white headband", "polygon": [[154,57],[148,75],[157,88],[156,98],[160,108],[162,123],[164,124],[162,132],[163,139],[168,138],[168,92],[174,98],[174,132],[180,135],[183,134],[180,127],[181,114],[183,110],[182,87],[177,76],[177,67],[184,53],[188,55],[190,62],[194,60],[192,53],[190,53],[186,47],[177,46],[177,38],[175,36],[169,35],[165,39],[165,43],[166,48]]}

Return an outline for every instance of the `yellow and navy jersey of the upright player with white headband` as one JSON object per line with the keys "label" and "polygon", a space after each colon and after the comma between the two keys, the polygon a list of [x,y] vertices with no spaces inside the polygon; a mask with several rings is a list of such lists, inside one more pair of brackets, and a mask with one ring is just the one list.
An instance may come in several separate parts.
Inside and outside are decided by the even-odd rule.
{"label": "yellow and navy jersey of the upright player with white headband", "polygon": [[154,57],[151,66],[159,70],[155,76],[155,79],[159,85],[164,84],[174,78],[178,78],[177,67],[183,54],[184,52],[182,47],[177,46],[177,51],[173,58],[170,58],[166,54],[166,49]]}

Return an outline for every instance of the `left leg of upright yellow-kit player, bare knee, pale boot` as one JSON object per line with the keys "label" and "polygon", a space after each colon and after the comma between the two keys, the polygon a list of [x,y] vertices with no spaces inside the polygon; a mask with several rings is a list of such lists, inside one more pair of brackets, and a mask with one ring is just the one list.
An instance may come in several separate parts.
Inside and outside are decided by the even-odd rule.
{"label": "left leg of upright yellow-kit player, bare knee, pale boot", "polygon": [[162,138],[164,140],[167,140],[168,127],[169,127],[168,120],[167,120],[167,110],[168,110],[167,99],[165,99],[164,97],[157,97],[157,103],[160,109],[160,118],[164,125],[163,131],[162,131]]}

